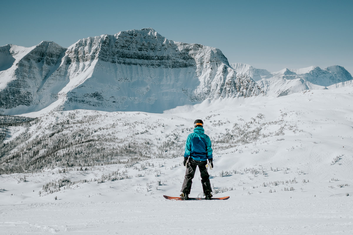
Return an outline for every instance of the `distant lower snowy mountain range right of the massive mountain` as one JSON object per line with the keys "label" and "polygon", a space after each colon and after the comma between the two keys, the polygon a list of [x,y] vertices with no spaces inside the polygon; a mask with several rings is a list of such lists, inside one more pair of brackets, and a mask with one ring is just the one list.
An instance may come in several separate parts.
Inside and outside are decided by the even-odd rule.
{"label": "distant lower snowy mountain range right of the massive mountain", "polygon": [[286,68],[272,73],[243,63],[230,65],[240,73],[249,75],[268,95],[275,97],[307,89],[333,88],[334,84],[344,84],[344,82],[353,80],[352,75],[345,68],[337,65],[325,69],[317,66],[301,69]]}

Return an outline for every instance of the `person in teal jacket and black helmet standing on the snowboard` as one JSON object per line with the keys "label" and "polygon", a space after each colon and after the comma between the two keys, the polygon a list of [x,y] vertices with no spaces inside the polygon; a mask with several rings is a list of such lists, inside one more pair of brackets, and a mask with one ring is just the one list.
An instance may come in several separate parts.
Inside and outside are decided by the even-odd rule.
{"label": "person in teal jacket and black helmet standing on the snowboard", "polygon": [[203,122],[200,119],[194,122],[194,132],[187,136],[185,143],[185,153],[184,153],[184,166],[186,166],[185,179],[183,186],[181,188],[180,198],[182,200],[189,199],[189,193],[191,190],[192,179],[194,178],[196,167],[199,167],[201,174],[201,183],[203,192],[205,194],[205,199],[212,199],[212,189],[210,183],[210,175],[207,172],[207,160],[209,165],[213,167],[213,156],[211,140],[208,135],[206,135],[203,129]]}

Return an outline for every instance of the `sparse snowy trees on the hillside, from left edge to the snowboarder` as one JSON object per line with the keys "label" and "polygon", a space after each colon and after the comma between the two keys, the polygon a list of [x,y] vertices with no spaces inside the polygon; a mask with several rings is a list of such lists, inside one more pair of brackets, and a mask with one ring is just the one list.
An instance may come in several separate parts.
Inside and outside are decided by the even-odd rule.
{"label": "sparse snowy trees on the hillside, from left edge to the snowboarder", "polygon": [[[144,123],[148,117],[139,120],[144,130],[136,131],[135,125],[125,116],[106,123],[109,117],[99,112],[79,116],[78,111],[72,111],[58,115],[55,122],[44,127],[42,123],[53,119],[50,115],[35,119],[37,122],[23,119],[22,125],[28,125],[28,129],[14,140],[0,143],[0,174],[101,164],[131,167],[152,157],[179,157],[184,151],[180,142],[182,130],[166,135],[157,143],[151,140],[150,131],[166,125]],[[144,113],[132,116],[135,115],[147,116]],[[21,125],[21,122],[17,120],[16,124]],[[119,137],[121,132],[127,137]]]}

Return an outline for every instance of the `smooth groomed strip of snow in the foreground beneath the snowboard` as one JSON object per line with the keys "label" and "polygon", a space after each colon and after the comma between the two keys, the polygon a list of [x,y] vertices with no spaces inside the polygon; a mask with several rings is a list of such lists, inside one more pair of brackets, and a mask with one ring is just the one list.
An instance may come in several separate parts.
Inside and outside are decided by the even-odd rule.
{"label": "smooth groomed strip of snow in the foreground beneath the snowboard", "polygon": [[[351,197],[1,206],[2,234],[352,234]],[[3,233],[5,231],[5,233]]]}

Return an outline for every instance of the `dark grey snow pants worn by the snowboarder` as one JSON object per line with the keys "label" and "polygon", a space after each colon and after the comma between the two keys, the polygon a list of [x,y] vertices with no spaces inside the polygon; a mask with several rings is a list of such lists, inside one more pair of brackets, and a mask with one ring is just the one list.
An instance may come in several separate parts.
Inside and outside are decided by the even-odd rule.
{"label": "dark grey snow pants worn by the snowboarder", "polygon": [[200,174],[201,174],[201,183],[202,183],[202,188],[203,188],[203,193],[206,192],[206,190],[211,189],[211,183],[210,183],[210,175],[207,172],[207,167],[206,167],[207,161],[197,161],[193,160],[191,157],[189,158],[189,163],[187,164],[186,167],[186,172],[185,172],[185,179],[183,186],[181,187],[180,192],[184,192],[185,189],[191,190],[191,185],[192,185],[192,179],[194,178],[195,172],[196,172],[196,167],[199,167]]}

